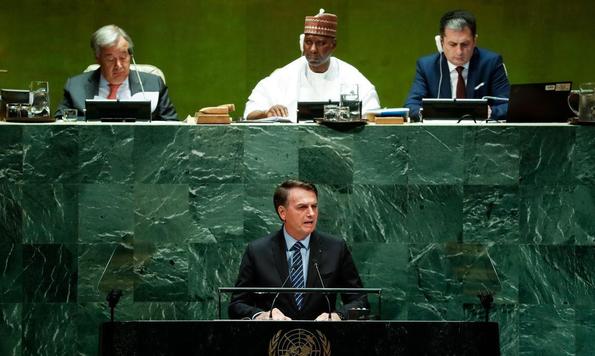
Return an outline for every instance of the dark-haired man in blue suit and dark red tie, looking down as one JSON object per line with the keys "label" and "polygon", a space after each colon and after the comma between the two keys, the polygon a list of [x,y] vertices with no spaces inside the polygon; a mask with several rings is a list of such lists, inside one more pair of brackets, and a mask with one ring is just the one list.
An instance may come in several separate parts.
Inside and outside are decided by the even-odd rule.
{"label": "dark-haired man in blue suit and dark red tie, looking down", "polygon": [[[415,79],[405,107],[409,117],[419,120],[421,99],[481,99],[483,96],[508,98],[511,85],[502,56],[475,46],[477,25],[469,11],[454,10],[440,20],[443,51],[419,58]],[[488,107],[488,118],[506,117],[508,103],[495,100]]]}

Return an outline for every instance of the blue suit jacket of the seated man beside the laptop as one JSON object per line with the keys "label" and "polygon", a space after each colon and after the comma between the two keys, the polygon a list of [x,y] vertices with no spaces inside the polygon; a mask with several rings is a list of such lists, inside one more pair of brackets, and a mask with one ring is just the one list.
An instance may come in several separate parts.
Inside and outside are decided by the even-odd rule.
{"label": "blue suit jacket of the seated man beside the laptop", "polygon": [[[409,117],[419,119],[421,99],[437,98],[438,84],[440,83],[440,57],[442,58],[442,84],[440,98],[452,98],[450,88],[450,74],[446,57],[439,53],[419,58],[415,79],[409,96],[405,100],[405,107],[409,108]],[[475,90],[475,87],[484,85]],[[469,61],[469,74],[466,82],[467,98],[481,99],[483,96],[497,96],[508,98],[511,93],[511,84],[508,82],[506,71],[502,64],[502,56],[487,49],[475,47],[471,61]],[[491,118],[505,118],[508,102],[490,101]]]}

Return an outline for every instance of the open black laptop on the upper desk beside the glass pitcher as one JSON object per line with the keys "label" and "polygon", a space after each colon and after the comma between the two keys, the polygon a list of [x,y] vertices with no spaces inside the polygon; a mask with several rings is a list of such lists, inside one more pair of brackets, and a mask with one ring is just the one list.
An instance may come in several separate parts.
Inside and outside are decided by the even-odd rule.
{"label": "open black laptop on the upper desk beside the glass pitcher", "polygon": [[572,82],[511,85],[508,123],[564,123],[574,117],[568,107]]}

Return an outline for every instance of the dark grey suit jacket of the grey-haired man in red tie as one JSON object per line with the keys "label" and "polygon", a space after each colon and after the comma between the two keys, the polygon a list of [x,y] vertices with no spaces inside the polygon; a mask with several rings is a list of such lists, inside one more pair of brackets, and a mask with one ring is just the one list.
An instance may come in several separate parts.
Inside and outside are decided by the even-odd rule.
{"label": "dark grey suit jacket of the grey-haired man in red tie", "polygon": [[[159,92],[159,102],[155,111],[151,114],[152,120],[178,120],[178,114],[174,105],[171,104],[168,96],[167,85],[161,80],[161,77],[155,74],[143,73],[139,71],[140,80],[143,82],[145,92]],[[99,68],[95,71],[87,71],[78,76],[70,77],[64,85],[64,97],[58,105],[58,110],[54,113],[55,117],[62,116],[63,109],[79,110],[79,117],[83,116],[85,99],[93,99],[99,93],[99,77],[101,71]],[[140,83],[136,76],[136,71],[130,70],[128,75],[130,94],[140,93]]]}

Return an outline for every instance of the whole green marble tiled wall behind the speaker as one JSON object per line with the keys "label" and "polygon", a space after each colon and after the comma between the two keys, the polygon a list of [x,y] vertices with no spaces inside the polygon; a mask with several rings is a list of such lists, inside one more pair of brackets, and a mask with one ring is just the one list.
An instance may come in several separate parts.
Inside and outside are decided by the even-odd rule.
{"label": "whole green marble tiled wall behind the speaker", "polygon": [[[121,241],[155,242],[118,320],[209,320],[275,185],[316,183],[388,320],[481,320],[441,245],[484,243],[504,355],[595,353],[595,129],[0,125],[0,354],[96,353]],[[375,302],[373,302],[375,305]]]}

